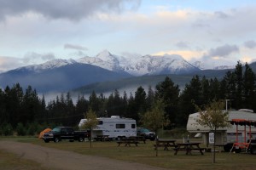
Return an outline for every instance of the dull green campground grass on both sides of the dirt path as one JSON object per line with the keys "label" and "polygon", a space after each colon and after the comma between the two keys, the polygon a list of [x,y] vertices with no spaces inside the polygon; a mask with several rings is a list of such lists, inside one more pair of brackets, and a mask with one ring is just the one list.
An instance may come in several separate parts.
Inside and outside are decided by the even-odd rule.
{"label": "dull green campground grass on both sides of the dirt path", "polygon": [[[250,155],[247,153],[227,153],[217,152],[216,163],[212,163],[212,153],[206,152],[203,156],[200,153],[193,152],[192,156],[186,156],[185,152],[178,152],[177,156],[174,156],[173,150],[158,150],[158,156],[154,150],[152,141],[147,141],[147,144],[138,144],[138,146],[118,147],[116,142],[92,142],[92,148],[90,148],[90,142],[68,142],[61,141],[59,143],[50,142],[44,143],[42,139],[36,138],[16,138],[20,142],[28,142],[32,144],[39,144],[46,147],[52,147],[60,150],[71,150],[84,155],[91,156],[106,156],[113,159],[123,161],[134,161],[143,164],[148,164],[156,167],[167,167],[170,169],[225,169],[225,170],[242,170],[242,169],[256,169],[256,155]],[[5,156],[7,155],[7,156]],[[33,166],[34,162],[19,160],[13,155],[9,155],[0,152],[0,156],[4,157],[6,165],[12,161],[15,161],[15,165],[26,163],[27,166]],[[26,161],[26,162],[24,162]],[[2,167],[2,161],[0,166]],[[32,169],[32,168],[26,168]]]}

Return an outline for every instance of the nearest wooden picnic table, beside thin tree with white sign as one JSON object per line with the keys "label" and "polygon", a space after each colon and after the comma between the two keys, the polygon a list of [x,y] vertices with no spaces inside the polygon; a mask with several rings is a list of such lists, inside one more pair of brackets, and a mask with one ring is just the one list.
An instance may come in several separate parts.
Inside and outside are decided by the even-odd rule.
{"label": "nearest wooden picnic table, beside thin tree with white sign", "polygon": [[186,155],[192,155],[191,151],[193,150],[200,151],[201,155],[204,155],[204,153],[202,152],[202,150],[204,149],[200,148],[199,144],[201,143],[199,142],[177,143],[177,148],[173,149],[175,150],[174,155],[177,155],[178,151],[186,151]]}

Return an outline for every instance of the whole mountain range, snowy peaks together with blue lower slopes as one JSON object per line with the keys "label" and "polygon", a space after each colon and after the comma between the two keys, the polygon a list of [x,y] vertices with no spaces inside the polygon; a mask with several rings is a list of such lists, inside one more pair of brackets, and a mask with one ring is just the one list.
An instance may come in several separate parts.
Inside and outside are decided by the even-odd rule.
{"label": "whole mountain range, snowy peaks together with blue lower slopes", "polygon": [[[180,55],[125,57],[105,50],[95,57],[86,56],[76,60],[54,59],[44,64],[27,65],[3,72],[0,74],[0,86],[11,87],[19,82],[21,87],[26,88],[31,85],[39,93],[67,92],[100,82],[115,82],[122,79],[132,82],[132,78],[138,81],[142,77],[148,77],[150,82],[150,77],[175,75],[175,77],[185,77],[187,80],[188,76],[203,74],[202,72],[205,71],[199,66],[190,64]],[[208,71],[207,74],[214,77],[212,71]],[[215,72],[215,76],[221,75]],[[123,86],[129,86],[128,82]]]}

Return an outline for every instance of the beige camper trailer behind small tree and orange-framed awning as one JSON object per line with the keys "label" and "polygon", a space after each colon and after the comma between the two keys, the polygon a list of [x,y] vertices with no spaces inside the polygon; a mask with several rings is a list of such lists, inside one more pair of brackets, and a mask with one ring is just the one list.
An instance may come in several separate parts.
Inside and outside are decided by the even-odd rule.
{"label": "beige camper trailer behind small tree and orange-framed awning", "polygon": [[[209,127],[203,127],[196,122],[199,116],[199,112],[189,115],[187,130],[189,133],[195,133],[195,138],[201,137],[204,144],[209,144],[208,137],[211,129]],[[256,113],[253,113],[252,110],[247,109],[229,111],[229,121],[232,122],[234,119],[256,121]],[[236,124],[230,124],[230,127],[218,128],[217,133],[215,133],[215,144],[223,145],[225,151],[230,151],[234,143],[242,143],[244,142],[244,139],[256,139],[256,127],[248,127],[247,125],[236,126]]]}

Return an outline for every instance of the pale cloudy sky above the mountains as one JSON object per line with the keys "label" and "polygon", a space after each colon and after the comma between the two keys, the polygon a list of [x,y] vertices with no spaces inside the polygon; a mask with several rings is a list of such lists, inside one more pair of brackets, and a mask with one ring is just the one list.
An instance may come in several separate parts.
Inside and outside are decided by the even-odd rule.
{"label": "pale cloudy sky above the mountains", "polygon": [[52,59],[178,54],[256,61],[254,0],[0,0],[0,72]]}

